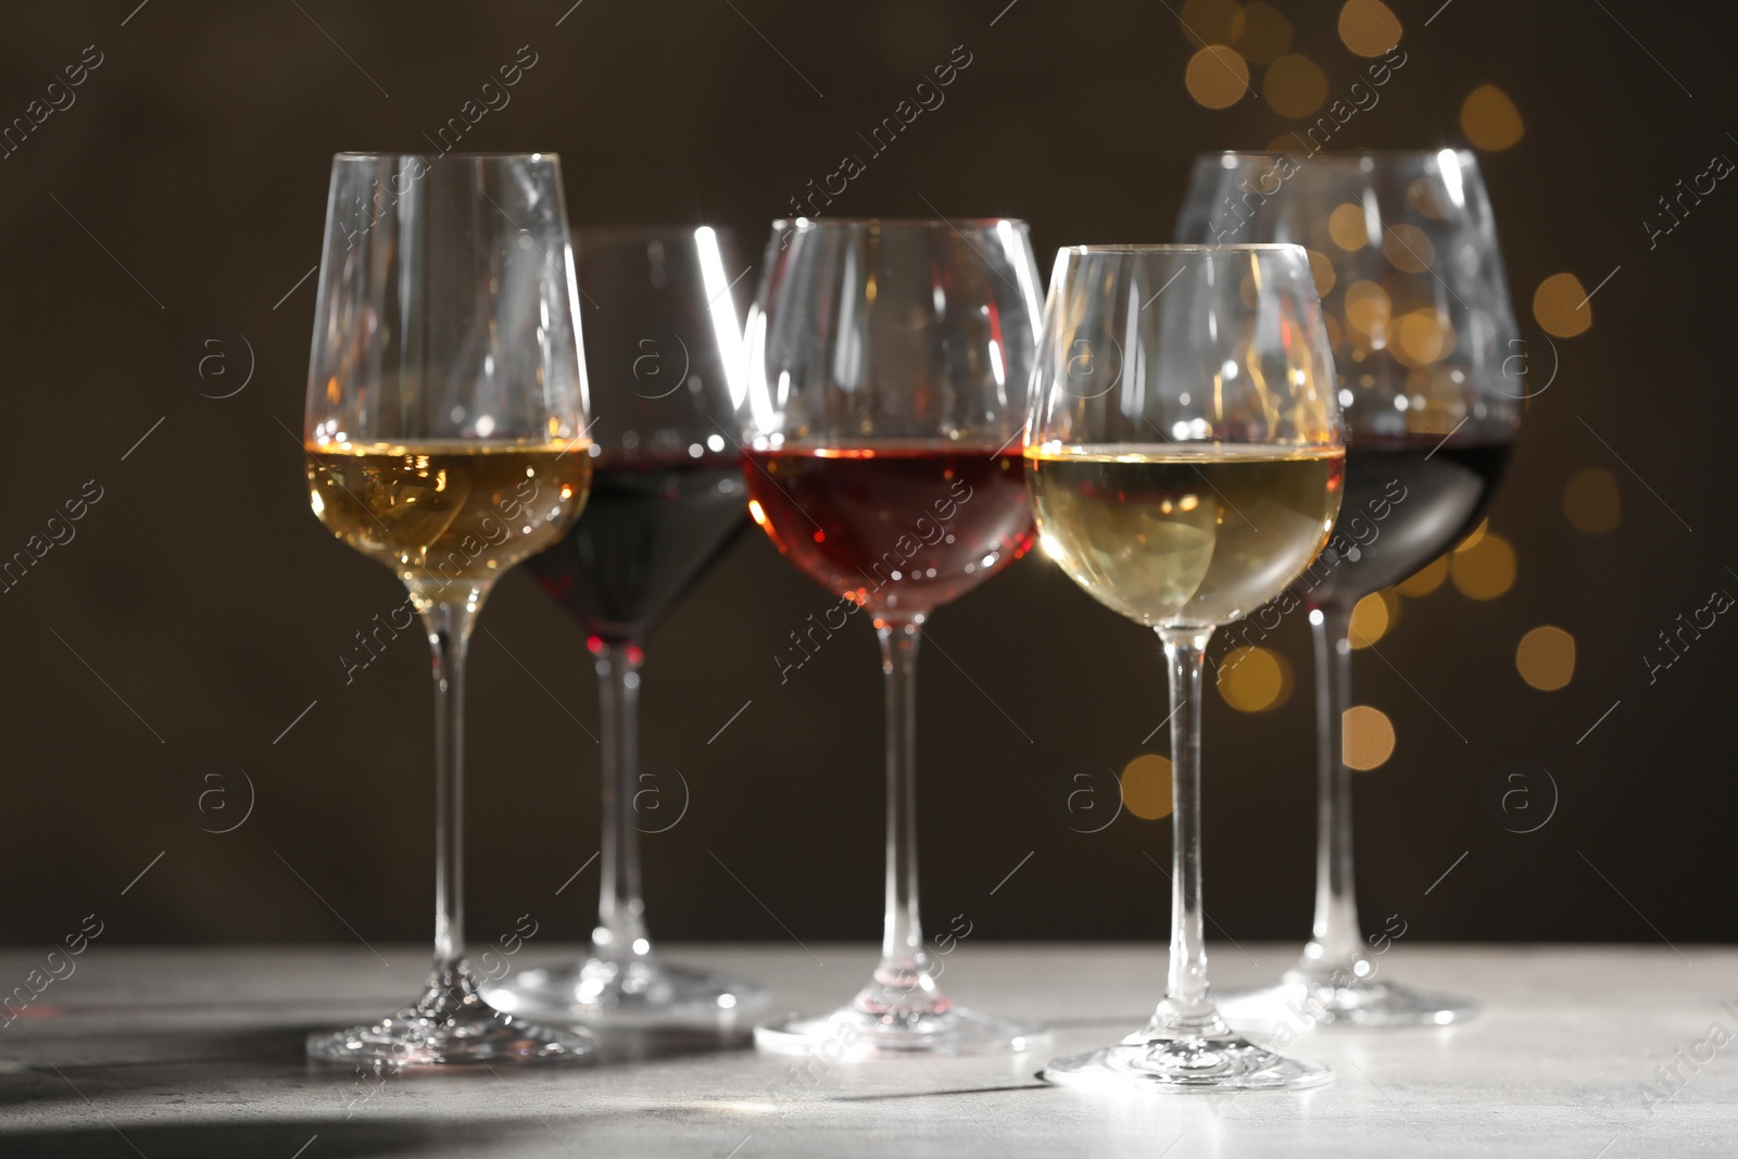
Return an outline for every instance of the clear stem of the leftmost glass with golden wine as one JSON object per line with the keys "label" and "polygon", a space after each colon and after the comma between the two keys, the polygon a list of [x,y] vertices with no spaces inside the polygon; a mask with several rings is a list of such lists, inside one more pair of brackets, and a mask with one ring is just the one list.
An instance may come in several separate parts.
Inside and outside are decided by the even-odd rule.
{"label": "clear stem of the leftmost glass with golden wine", "polygon": [[434,653],[434,980],[447,987],[464,970],[464,657],[481,605],[473,589],[422,606]]}

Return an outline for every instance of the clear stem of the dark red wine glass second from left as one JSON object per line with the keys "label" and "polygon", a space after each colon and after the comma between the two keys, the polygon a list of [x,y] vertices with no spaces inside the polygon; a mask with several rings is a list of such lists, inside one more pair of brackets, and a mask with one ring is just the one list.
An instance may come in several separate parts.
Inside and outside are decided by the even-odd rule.
{"label": "clear stem of the dark red wine glass second from left", "polygon": [[603,841],[598,926],[591,931],[594,957],[624,961],[647,957],[650,938],[640,897],[640,831],[634,799],[640,792],[640,662],[629,641],[593,648],[598,660],[600,725],[603,730]]}

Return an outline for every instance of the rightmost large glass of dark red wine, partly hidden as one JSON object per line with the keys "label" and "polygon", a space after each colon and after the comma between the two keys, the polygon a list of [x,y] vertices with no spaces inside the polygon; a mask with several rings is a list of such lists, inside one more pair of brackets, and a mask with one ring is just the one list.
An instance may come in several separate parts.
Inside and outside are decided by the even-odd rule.
{"label": "rightmost large glass of dark red wine, partly hidden", "polygon": [[[1528,396],[1479,163],[1465,149],[1312,158],[1224,153],[1194,165],[1184,242],[1309,247],[1345,414],[1345,502],[1291,593],[1316,638],[1316,921],[1277,987],[1227,999],[1237,1017],[1443,1025],[1476,1008],[1376,980],[1352,884],[1354,605],[1436,560],[1484,516]],[[1234,636],[1253,643],[1246,626]]]}

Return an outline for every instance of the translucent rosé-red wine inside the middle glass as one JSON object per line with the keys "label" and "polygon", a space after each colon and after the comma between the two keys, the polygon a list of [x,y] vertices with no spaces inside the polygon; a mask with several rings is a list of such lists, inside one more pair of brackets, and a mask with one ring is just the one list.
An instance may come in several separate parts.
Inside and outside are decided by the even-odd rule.
{"label": "translucent ros\u00e9-red wine inside the middle glass", "polygon": [[751,513],[779,551],[871,612],[930,612],[1032,546],[1018,448],[935,440],[747,459]]}

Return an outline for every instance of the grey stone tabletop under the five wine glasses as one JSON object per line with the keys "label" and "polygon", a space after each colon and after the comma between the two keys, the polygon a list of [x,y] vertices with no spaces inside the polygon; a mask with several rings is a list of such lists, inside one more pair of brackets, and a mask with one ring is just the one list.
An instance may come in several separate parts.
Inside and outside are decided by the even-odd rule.
{"label": "grey stone tabletop under the five wine glasses", "polygon": [[[1032,1077],[1050,1053],[1100,1046],[1145,1020],[1163,973],[1154,945],[961,944],[949,992],[1048,1022],[1053,1048],[813,1067],[813,1084],[740,1032],[614,1036],[574,1067],[384,1083],[309,1065],[308,1030],[384,1013],[415,989],[426,950],[377,949],[391,964],[360,947],[92,942],[70,977],[0,1029],[0,1156],[1738,1154],[1738,1039],[1728,1041],[1738,949],[1399,945],[1387,970],[1477,996],[1483,1015],[1441,1029],[1309,1030],[1291,1050],[1331,1063],[1333,1084],[1236,1098],[1090,1096]],[[532,944],[514,966],[560,949]],[[1257,983],[1295,952],[1217,945],[1215,977]],[[671,947],[671,957],[765,980],[773,1010],[819,1010],[853,992],[874,954],[739,945]],[[42,952],[0,952],[0,985],[42,966]],[[1662,1083],[1660,1067],[1675,1077]]]}

